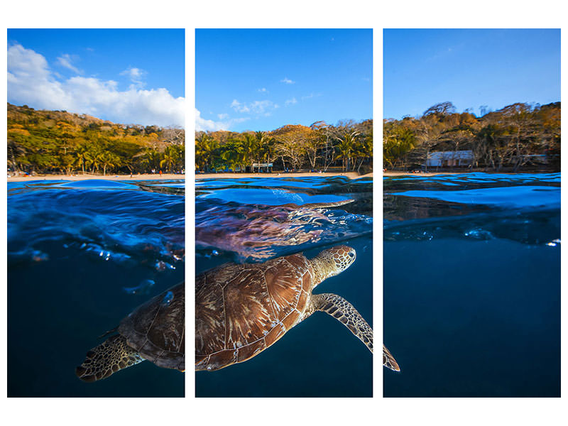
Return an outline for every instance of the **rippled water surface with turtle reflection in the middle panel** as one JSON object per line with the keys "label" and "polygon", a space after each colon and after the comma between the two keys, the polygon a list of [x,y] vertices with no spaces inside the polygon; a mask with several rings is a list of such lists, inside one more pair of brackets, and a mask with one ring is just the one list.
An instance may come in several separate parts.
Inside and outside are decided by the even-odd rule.
{"label": "rippled water surface with turtle reflection in the middle panel", "polygon": [[201,256],[223,253],[239,262],[265,261],[372,232],[368,180],[250,178],[200,184],[195,241]]}

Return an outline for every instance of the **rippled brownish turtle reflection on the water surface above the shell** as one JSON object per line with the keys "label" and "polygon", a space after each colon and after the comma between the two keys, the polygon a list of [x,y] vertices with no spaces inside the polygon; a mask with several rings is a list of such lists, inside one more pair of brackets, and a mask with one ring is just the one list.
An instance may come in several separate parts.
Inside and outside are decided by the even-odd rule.
{"label": "rippled brownish turtle reflection on the water surface above the shell", "polygon": [[[338,219],[325,215],[324,209],[353,201],[278,206],[226,203],[209,207],[195,214],[195,244],[233,251],[241,259],[271,258],[277,247],[315,243],[329,236],[327,225],[335,224]],[[349,236],[345,228],[341,226],[344,237]]]}

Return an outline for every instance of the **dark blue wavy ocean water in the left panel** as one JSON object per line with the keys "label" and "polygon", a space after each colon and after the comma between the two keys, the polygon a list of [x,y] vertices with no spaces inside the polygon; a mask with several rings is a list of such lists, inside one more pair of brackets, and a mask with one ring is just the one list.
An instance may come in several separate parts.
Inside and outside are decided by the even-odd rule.
{"label": "dark blue wavy ocean water in the left panel", "polygon": [[75,367],[135,307],[184,279],[184,181],[8,184],[8,395],[178,396],[145,361],[94,383]]}

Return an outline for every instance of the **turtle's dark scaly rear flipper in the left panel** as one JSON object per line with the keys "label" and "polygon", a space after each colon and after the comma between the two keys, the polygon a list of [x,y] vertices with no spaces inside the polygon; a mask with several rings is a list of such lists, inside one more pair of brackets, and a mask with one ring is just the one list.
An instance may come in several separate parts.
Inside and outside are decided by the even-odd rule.
{"label": "turtle's dark scaly rear flipper in the left panel", "polygon": [[116,334],[88,351],[83,364],[75,368],[75,374],[82,381],[94,382],[142,361],[142,356],[126,343],[126,339]]}

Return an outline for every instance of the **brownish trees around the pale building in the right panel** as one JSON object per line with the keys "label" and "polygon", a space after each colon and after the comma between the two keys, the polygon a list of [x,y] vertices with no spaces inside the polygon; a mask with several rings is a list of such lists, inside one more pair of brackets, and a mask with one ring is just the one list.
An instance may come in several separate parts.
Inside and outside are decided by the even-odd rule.
{"label": "brownish trees around the pale building in the right panel", "polygon": [[471,168],[560,170],[560,102],[481,107],[480,116],[442,102],[422,116],[383,121],[386,168],[422,168],[433,151],[462,150],[471,150]]}

